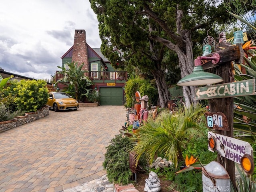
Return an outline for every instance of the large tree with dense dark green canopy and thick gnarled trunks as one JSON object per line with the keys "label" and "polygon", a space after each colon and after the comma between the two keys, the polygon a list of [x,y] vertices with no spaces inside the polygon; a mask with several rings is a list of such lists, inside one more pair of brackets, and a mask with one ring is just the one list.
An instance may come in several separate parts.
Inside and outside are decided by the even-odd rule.
{"label": "large tree with dense dark green canopy and thick gnarled trunks", "polygon": [[[230,18],[218,0],[90,0],[98,16],[101,50],[112,64],[138,65],[156,80],[161,106],[168,101],[162,59],[175,52],[181,76],[192,73],[193,48],[202,43],[206,31]],[[216,36],[216,33],[214,33]],[[121,49],[120,57],[113,50]],[[168,50],[166,50],[168,48]],[[186,104],[195,102],[194,87],[184,86]]]}

